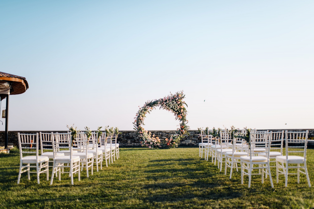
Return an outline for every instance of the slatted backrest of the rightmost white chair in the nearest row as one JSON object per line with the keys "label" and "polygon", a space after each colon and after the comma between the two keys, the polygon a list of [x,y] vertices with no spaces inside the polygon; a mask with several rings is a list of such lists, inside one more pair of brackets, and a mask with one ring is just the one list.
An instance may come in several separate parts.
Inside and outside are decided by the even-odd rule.
{"label": "slatted backrest of the rightmost white chair in the nearest row", "polygon": [[[306,160],[307,137],[309,130],[306,131],[287,131],[286,130],[286,160],[289,153],[303,153]],[[293,148],[293,150],[291,150]],[[302,150],[295,150],[296,148]]]}

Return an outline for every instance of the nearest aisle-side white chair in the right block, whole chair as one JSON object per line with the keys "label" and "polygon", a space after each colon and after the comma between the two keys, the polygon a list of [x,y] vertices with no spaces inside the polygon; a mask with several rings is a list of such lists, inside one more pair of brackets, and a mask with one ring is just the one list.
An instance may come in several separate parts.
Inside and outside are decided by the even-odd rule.
{"label": "nearest aisle-side white chair in the right block, whole chair", "polygon": [[[266,174],[265,169],[268,170],[269,180],[271,187],[273,188],[273,180],[270,173],[269,165],[269,151],[270,151],[270,138],[271,132],[263,133],[262,136],[259,133],[250,134],[251,148],[248,150],[248,156],[241,156],[241,184],[243,184],[243,177],[247,175],[249,177],[248,187],[251,187],[251,178],[252,175],[262,175],[262,184],[264,183],[264,173]],[[266,156],[258,156],[258,154],[266,153]],[[254,167],[258,165],[258,167]],[[254,169],[258,169],[258,173],[252,173]],[[245,170],[247,172],[245,172]],[[262,170],[262,172],[261,172]]]}

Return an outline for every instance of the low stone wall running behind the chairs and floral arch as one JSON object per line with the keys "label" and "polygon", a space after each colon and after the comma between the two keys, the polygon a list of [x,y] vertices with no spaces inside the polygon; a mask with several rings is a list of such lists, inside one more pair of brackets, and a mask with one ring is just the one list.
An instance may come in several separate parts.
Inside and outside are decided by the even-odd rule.
{"label": "low stone wall running behind the chairs and floral arch", "polygon": [[[282,131],[276,129],[268,129],[269,131]],[[306,131],[306,129],[288,129],[289,131]],[[309,139],[314,139],[314,129],[309,130]],[[262,131],[262,130],[261,130]],[[263,130],[265,131],[265,130]],[[8,145],[18,146],[18,132],[20,133],[37,133],[39,131],[9,131],[9,140]],[[66,133],[68,131],[41,131],[42,133],[50,133],[50,132],[59,132]],[[118,136],[118,143],[120,143],[121,147],[139,147],[139,137],[136,131],[120,131],[121,134]],[[176,131],[151,131],[152,134],[155,134],[155,137],[159,137],[162,141],[165,138],[170,138],[172,134]],[[198,138],[197,130],[189,130],[190,135],[185,135],[185,137],[181,140],[179,146],[198,146],[198,143],[201,141],[201,138]],[[310,147],[314,145],[313,141],[309,141],[308,144]],[[0,131],[0,146],[4,146],[4,131]]]}

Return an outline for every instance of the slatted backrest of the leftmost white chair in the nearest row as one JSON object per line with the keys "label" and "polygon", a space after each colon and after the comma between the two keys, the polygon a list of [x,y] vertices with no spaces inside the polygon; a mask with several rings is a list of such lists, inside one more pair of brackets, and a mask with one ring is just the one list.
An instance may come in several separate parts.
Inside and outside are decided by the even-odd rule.
{"label": "slatted backrest of the leftmost white chair in the nearest row", "polygon": [[[18,133],[20,159],[23,154],[36,154],[38,161],[38,133],[35,134],[20,134]],[[35,149],[35,150],[34,150]]]}

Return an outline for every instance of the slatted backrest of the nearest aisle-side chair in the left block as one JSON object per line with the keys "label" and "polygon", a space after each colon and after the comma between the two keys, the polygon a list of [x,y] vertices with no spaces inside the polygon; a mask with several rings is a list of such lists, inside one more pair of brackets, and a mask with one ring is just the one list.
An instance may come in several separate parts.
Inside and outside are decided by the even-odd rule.
{"label": "slatted backrest of the nearest aisle-side chair in the left block", "polygon": [[53,133],[51,136],[53,157],[57,157],[57,153],[60,152],[60,149],[68,149],[70,150],[70,158],[72,159],[73,139],[71,133]]}

